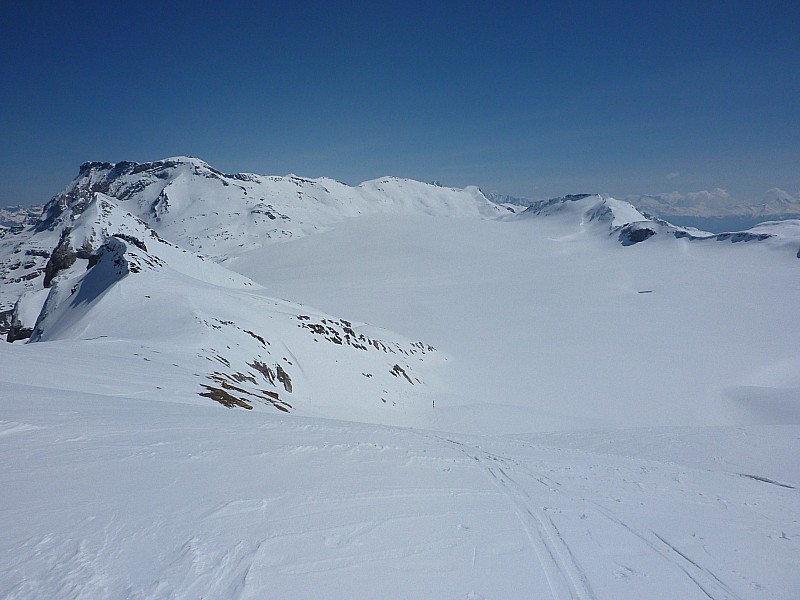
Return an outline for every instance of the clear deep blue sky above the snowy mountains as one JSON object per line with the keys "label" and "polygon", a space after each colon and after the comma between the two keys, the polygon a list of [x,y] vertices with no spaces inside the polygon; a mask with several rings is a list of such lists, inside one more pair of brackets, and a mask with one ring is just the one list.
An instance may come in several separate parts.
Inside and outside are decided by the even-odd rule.
{"label": "clear deep blue sky above the snowy mountains", "polygon": [[0,205],[86,160],[800,192],[797,2],[7,2]]}

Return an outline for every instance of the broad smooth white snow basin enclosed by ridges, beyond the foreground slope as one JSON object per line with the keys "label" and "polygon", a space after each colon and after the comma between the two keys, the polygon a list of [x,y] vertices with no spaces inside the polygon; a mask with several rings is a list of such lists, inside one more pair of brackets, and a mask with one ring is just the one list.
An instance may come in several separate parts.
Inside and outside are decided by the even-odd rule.
{"label": "broad smooth white snow basin enclosed by ridges, beyond the foreground slope", "polygon": [[626,246],[627,225],[567,206],[578,215],[376,215],[230,266],[451,357],[421,426],[800,423],[797,246],[665,232]]}

